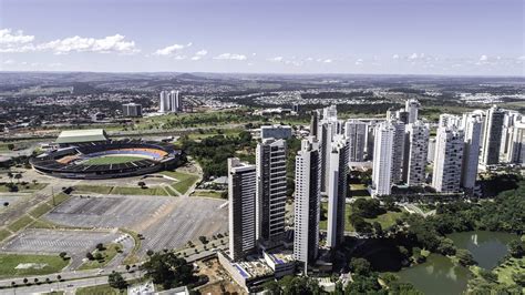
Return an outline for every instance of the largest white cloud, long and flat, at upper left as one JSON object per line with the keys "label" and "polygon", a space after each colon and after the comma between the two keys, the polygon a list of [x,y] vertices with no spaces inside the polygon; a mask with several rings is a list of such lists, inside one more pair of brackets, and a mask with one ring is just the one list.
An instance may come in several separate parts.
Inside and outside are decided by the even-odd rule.
{"label": "largest white cloud, long and flat, at upper left", "polygon": [[55,54],[66,54],[70,52],[136,53],[140,51],[135,47],[135,41],[127,41],[122,34],[107,35],[102,39],[75,35],[39,44],[37,50],[51,50]]}

